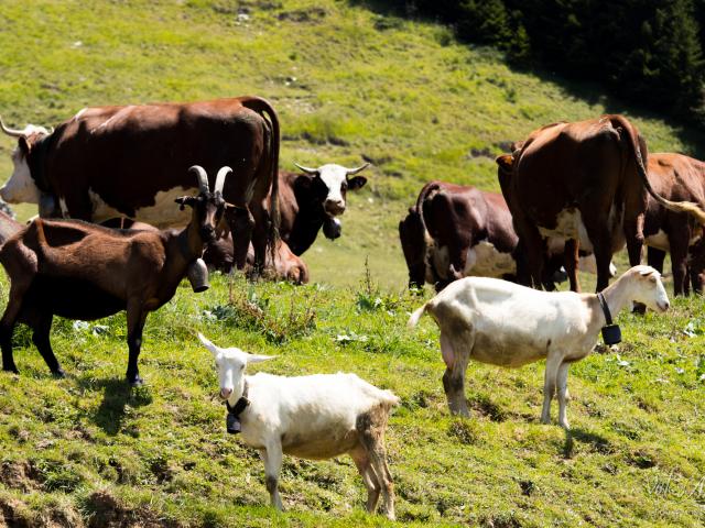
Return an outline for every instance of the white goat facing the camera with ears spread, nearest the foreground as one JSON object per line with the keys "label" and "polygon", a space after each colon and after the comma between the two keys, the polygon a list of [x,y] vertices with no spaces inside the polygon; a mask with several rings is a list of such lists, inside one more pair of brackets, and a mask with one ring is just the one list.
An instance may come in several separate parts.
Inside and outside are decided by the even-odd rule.
{"label": "white goat facing the camera with ears spread, nearest the foreground", "polygon": [[314,460],[348,453],[367,488],[367,510],[375,512],[381,492],[387,517],[394,519],[384,430],[391,407],[399,405],[397,396],[355,374],[246,376],[248,364],[273,356],[221,349],[200,333],[198,339],[216,360],[220,397],[227,399],[229,409],[241,397],[248,403],[238,416],[242,440],[260,451],[272,506],[283,509],[278,490],[282,453]]}

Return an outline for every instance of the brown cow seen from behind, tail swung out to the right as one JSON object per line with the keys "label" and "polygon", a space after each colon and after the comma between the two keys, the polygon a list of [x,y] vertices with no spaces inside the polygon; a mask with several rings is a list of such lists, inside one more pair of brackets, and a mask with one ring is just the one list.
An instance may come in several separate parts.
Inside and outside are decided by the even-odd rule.
{"label": "brown cow seen from behind, tail swung out to the right", "polygon": [[622,116],[573,123],[553,123],[532,132],[512,155],[500,156],[498,176],[527,250],[527,272],[520,280],[541,287],[544,239],[566,240],[571,288],[577,285],[578,240],[597,261],[597,290],[609,283],[611,255],[625,241],[630,264],[641,260],[647,193],[666,209],[705,212],[690,202],[657,195],[649,183],[647,144]]}

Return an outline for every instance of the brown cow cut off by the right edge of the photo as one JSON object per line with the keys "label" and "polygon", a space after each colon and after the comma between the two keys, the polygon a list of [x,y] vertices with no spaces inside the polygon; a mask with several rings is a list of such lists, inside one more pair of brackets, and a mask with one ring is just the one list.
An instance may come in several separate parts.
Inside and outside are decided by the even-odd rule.
{"label": "brown cow cut off by the right edge of the photo", "polygon": [[[659,195],[674,201],[692,201],[705,207],[705,163],[683,154],[649,154],[649,179]],[[687,295],[688,275],[695,292],[702,292],[705,257],[703,228],[688,215],[677,213],[649,199],[643,224],[649,265],[663,271],[665,253],[671,253],[674,295]]]}

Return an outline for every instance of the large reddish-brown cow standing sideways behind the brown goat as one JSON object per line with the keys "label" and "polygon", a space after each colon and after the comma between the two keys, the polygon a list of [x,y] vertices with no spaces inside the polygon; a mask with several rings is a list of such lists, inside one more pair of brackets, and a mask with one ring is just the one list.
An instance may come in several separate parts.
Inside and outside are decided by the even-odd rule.
{"label": "large reddish-brown cow standing sideways behind the brown goat", "polygon": [[18,138],[14,173],[0,196],[40,204],[42,216],[94,222],[126,216],[158,228],[185,226],[188,215],[170,204],[197,194],[187,168],[198,163],[213,175],[232,167],[224,198],[234,206],[226,217],[236,233],[235,261],[245,266],[252,240],[258,265],[264,263],[279,220],[280,143],[276,113],[264,99],[86,108],[55,131],[0,125]]}

